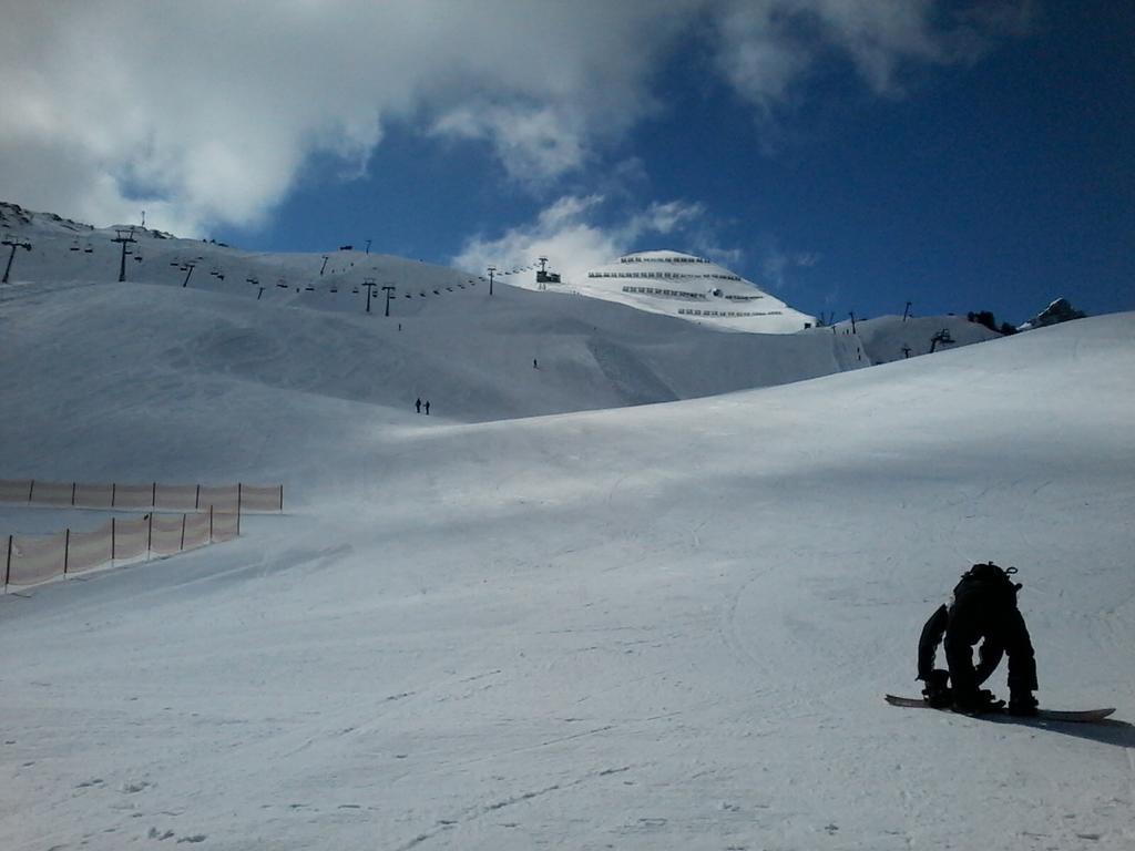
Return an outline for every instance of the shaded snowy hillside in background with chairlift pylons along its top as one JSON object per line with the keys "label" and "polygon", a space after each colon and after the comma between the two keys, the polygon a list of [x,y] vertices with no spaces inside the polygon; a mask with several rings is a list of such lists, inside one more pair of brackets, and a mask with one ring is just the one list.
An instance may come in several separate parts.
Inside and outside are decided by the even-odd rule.
{"label": "shaded snowy hillside in background with chairlift pylons along its top", "polygon": [[[0,214],[0,233],[32,245],[17,251],[2,294],[10,315],[25,300],[34,315],[14,329],[12,356],[58,357],[52,374],[83,359],[92,373],[84,382],[142,360],[177,369],[176,343],[207,362],[212,348],[239,349],[218,369],[264,384],[400,411],[430,397],[442,416],[476,421],[693,398],[873,363],[865,339],[842,328],[730,334],[722,332],[729,322],[633,309],[621,296],[533,292],[498,278],[489,297],[482,277],[389,255],[255,254],[142,228],[93,229],[12,205]],[[135,241],[125,260],[119,236]],[[384,286],[394,287],[388,317]],[[997,336],[956,317],[924,321],[952,329],[958,343]],[[78,322],[116,348],[89,352],[57,332]],[[874,322],[877,331],[899,320]],[[914,354],[930,351],[928,334],[907,337]],[[894,357],[874,349],[880,362]],[[91,361],[103,356],[117,365]]]}

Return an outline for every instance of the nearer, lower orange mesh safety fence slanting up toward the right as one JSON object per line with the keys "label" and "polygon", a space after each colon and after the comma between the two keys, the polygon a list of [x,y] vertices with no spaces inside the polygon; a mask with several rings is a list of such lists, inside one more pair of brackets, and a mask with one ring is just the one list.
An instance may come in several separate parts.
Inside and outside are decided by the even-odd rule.
{"label": "nearer, lower orange mesh safety fence slanting up toward the right", "polygon": [[67,529],[50,536],[9,534],[0,541],[5,591],[8,585],[34,585],[116,561],[171,556],[234,540],[239,533],[238,514],[210,506],[201,513],[162,516],[151,512],[144,517],[111,517],[92,532]]}

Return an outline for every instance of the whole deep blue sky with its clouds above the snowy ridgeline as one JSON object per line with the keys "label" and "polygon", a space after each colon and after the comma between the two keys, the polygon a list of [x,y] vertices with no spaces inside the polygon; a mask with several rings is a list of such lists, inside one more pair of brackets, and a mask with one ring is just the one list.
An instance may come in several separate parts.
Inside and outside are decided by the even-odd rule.
{"label": "whole deep blue sky with its clouds above the snowy ridgeline", "polygon": [[[149,208],[152,224],[253,250],[370,238],[464,267],[546,253],[569,276],[670,247],[836,318],[908,300],[916,313],[1012,322],[1061,295],[1090,313],[1135,309],[1132,5],[609,6],[486,0],[462,17],[470,7],[445,0],[344,0],[325,10],[354,16],[359,33],[320,34],[294,8],[274,32],[205,3],[226,43],[186,52],[158,94],[135,93],[125,130],[60,151],[81,161],[120,134],[125,165],[107,168],[100,151],[104,175],[92,167],[70,197],[43,189],[42,202],[0,168],[0,196],[118,220]],[[87,74],[153,74],[162,40],[200,25],[165,18],[135,31],[150,52],[124,45],[125,60],[96,57]],[[64,45],[54,31],[68,25],[96,24],[24,24]],[[296,51],[323,59],[293,74]],[[272,67],[279,53],[289,65]],[[9,165],[51,165],[19,138],[5,150],[5,133]],[[84,182],[115,194],[84,210],[99,197]]]}

